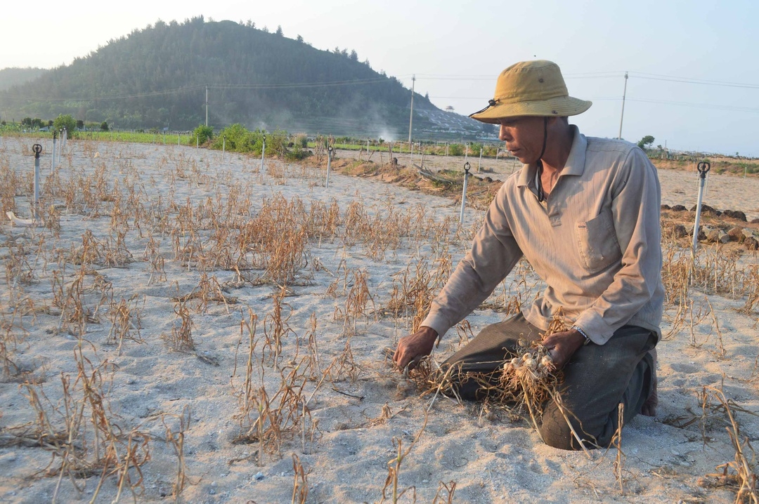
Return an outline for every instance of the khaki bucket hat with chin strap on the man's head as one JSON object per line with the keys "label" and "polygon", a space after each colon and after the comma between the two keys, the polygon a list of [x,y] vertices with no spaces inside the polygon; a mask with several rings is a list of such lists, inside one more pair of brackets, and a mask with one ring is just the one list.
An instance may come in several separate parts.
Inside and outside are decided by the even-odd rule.
{"label": "khaki bucket hat with chin strap on the man's head", "polygon": [[558,116],[582,114],[593,102],[572,98],[553,61],[521,61],[498,76],[495,98],[469,117],[498,124],[499,119],[521,115]]}

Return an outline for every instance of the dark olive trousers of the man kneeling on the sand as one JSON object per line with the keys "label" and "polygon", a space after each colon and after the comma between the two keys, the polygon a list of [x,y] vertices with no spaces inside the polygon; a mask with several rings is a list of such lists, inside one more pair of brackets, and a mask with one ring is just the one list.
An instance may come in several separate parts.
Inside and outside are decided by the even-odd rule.
{"label": "dark olive trousers of the man kneeling on the sand", "polygon": [[[454,366],[452,380],[462,399],[482,400],[487,388],[477,380],[467,380],[467,372],[495,375],[503,362],[512,358],[519,338],[540,340],[539,329],[520,314],[485,327],[474,340],[459,349],[443,364]],[[617,405],[624,403],[625,424],[641,412],[653,390],[653,359],[648,351],[656,346],[656,335],[636,326],[624,326],[604,345],[581,346],[564,367],[559,386],[562,405],[568,410],[572,427],[585,447],[609,446],[616,432]],[[560,449],[581,449],[567,421],[553,401],[543,405],[538,420],[543,441]]]}

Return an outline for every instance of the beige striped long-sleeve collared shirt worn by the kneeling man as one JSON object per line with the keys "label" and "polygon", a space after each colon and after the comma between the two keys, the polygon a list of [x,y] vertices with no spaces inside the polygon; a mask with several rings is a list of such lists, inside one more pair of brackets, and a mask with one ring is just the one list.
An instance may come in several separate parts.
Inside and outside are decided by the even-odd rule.
{"label": "beige striped long-sleeve collared shirt worn by the kneeling man", "polygon": [[433,300],[422,325],[438,334],[465,318],[524,255],[547,283],[522,313],[546,330],[565,320],[600,345],[625,324],[660,337],[661,190],[656,168],[637,146],[581,135],[545,202],[535,164],[503,183],[471,250]]}

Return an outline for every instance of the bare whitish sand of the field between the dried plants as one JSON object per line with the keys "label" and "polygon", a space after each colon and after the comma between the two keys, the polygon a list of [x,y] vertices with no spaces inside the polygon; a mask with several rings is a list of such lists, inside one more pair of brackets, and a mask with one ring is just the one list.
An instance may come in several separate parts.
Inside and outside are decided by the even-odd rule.
{"label": "bare whitish sand of the field between the dried plants", "polygon": [[[24,150],[29,149],[27,143],[31,142],[24,140],[22,146],[16,139],[0,139],[0,167],[8,164],[13,171],[27,177],[33,166],[29,152]],[[22,152],[27,155],[22,156]],[[49,156],[43,156],[42,161],[44,180],[50,174]],[[312,314],[317,319],[320,370],[324,371],[343,354],[346,329],[342,320],[335,320],[335,309],[345,310],[354,273],[365,271],[377,317],[368,315],[355,321],[355,334],[350,340],[357,365],[353,376],[343,373],[320,383],[320,375],[313,372],[314,380],[306,381],[303,389],[304,398],[310,398],[307,403],[310,418],[306,415],[294,436],[284,438],[281,454],[266,452],[263,465],[258,465],[257,443],[232,443],[241,432],[238,394],[244,383],[248,352],[247,335],[241,337],[241,320],[247,318],[248,308],[258,315],[252,387],[262,386],[260,371],[263,368],[263,387],[273,396],[282,378],[272,366],[269,350],[266,349],[263,367],[260,356],[265,348],[264,319],[272,314],[272,294],[278,290],[270,283],[260,286],[243,283],[227,293],[227,296],[237,297],[238,304],[227,308],[223,303],[209,302],[205,313],[191,309],[196,352],[206,362],[191,353],[169,350],[165,336],[172,333],[177,319],[171,298],[178,293],[190,293],[200,281],[200,272],[194,263],[188,271],[187,261],[174,260],[172,237],[168,232],[161,233],[157,223],[152,229],[143,224],[141,235],[139,230],[130,227],[125,244],[134,262],[123,268],[97,264],[88,267],[103,275],[101,280],[112,284],[115,302],[132,299],[129,305],[139,311],[142,343],[124,340],[121,352],[117,346],[106,343],[112,328],[106,302],[95,314],[99,323],[86,325],[83,354],[94,367],[105,362],[115,365],[102,372],[105,382],[102,390],[110,405],[111,421],[125,433],[140,430],[150,434],[150,461],[142,467],[144,493],[139,497],[140,502],[170,499],[178,457],[166,442],[167,427],[177,433],[183,411],[190,421],[184,424],[183,452],[188,479],[181,501],[289,502],[294,481],[291,455],[296,454],[307,472],[308,502],[379,502],[388,476],[388,462],[397,452],[393,440],[400,440],[404,450],[411,446],[424,424],[424,412],[430,408],[430,396],[420,398],[415,390],[408,390],[402,377],[386,365],[383,349],[395,346],[398,337],[407,333],[410,321],[383,315],[382,307],[389,302],[393,286],[399,286],[398,274],[408,265],[412,265],[412,272],[420,260],[427,261],[427,268],[435,268],[433,257],[445,256],[441,252],[443,248],[452,255],[455,265],[467,249],[471,228],[481,215],[468,210],[468,226],[457,233],[458,208],[449,199],[334,173],[330,176],[329,189],[325,189],[323,170],[270,160],[266,162],[267,173],[284,172],[286,177],[263,178],[259,162],[255,158],[229,154],[222,162],[220,152],[175,146],[69,142],[59,174],[62,180],[69,180],[99,170],[111,188],[114,180],[119,180],[118,192],[124,200],[128,197],[127,188],[134,185],[137,196],[133,202],[140,201],[145,208],[156,208],[160,198],[161,214],[168,218],[168,229],[178,217],[176,209],[167,209],[170,199],[179,206],[189,200],[191,206],[197,208],[201,202],[204,205],[224,202],[233,188],[239,189],[239,199],[250,198],[252,216],[261,208],[263,199],[282,195],[285,199],[299,198],[306,205],[336,199],[343,216],[351,203],[360,202],[368,214],[379,217],[391,210],[416,215],[424,208],[425,215],[432,221],[444,223],[448,218],[449,224],[454,224],[448,226],[448,233],[439,236],[439,243],[428,243],[425,238],[429,234],[407,236],[398,246],[373,257],[361,240],[352,246],[346,245],[341,238],[342,230],[335,239],[309,243],[307,265],[301,268],[297,281],[290,287],[291,293],[283,301],[291,332],[282,338],[279,367],[285,369],[286,376],[292,369],[288,362],[303,362],[301,359],[308,353]],[[687,207],[694,204],[698,189],[694,174],[662,171],[660,179],[664,203]],[[751,219],[759,217],[757,190],[759,180],[755,178],[713,176],[704,202],[715,208],[743,210]],[[80,196],[82,191],[80,189]],[[18,194],[16,198],[17,214],[22,218],[30,217],[27,194],[28,188],[25,188],[24,195]],[[63,205],[61,198],[58,194],[53,201]],[[71,377],[73,394],[80,395],[74,384],[77,377],[74,350],[80,344],[79,339],[67,330],[58,332],[59,309],[50,309],[53,315],[41,311],[35,315],[17,314],[30,303],[38,308],[55,308],[52,279],[59,277],[63,262],[56,257],[67,257],[72,247],[81,246],[85,230],[91,230],[101,243],[106,243],[109,236],[115,239],[110,227],[112,205],[112,202],[102,202],[99,215],[92,213],[93,208],[74,210],[74,205],[63,208],[57,238],[44,227],[11,227],[8,221],[0,227],[0,255],[4,264],[10,261],[9,247],[18,254],[18,247],[24,246],[28,266],[21,271],[33,271],[30,281],[9,285],[8,280],[12,283],[15,278],[11,274],[0,288],[3,341],[8,346],[5,355],[20,368],[33,370],[32,376],[41,382],[33,390],[45,394],[43,409],[58,428],[62,428],[61,415],[55,413],[53,406],[62,412],[61,375]],[[209,219],[205,222],[207,224]],[[208,226],[200,233],[204,241],[208,239]],[[150,266],[143,260],[143,252],[151,234],[160,243],[166,280],[154,274],[149,284]],[[177,236],[186,238],[181,233]],[[746,254],[737,265],[741,269],[751,265],[756,268],[757,260],[755,255]],[[65,288],[71,286],[79,268],[68,261]],[[262,271],[242,273],[255,278]],[[210,269],[206,274],[215,277],[220,284],[238,280],[235,271]],[[85,286],[92,287],[97,278],[95,274],[88,274]],[[505,288],[509,296],[517,294],[516,282],[520,278],[512,274],[507,279]],[[534,296],[539,289],[530,274],[525,278],[531,289],[522,293],[523,299]],[[332,295],[329,286],[335,280],[338,282]],[[689,295],[694,313],[701,312],[704,316],[692,324],[692,336],[690,324],[686,324],[659,346],[658,416],[635,418],[622,434],[624,493],[619,489],[614,472],[616,451],[597,450],[589,458],[583,452],[552,449],[540,442],[526,421],[510,421],[502,412],[488,415],[477,405],[459,405],[449,399],[437,399],[431,406],[427,427],[402,462],[399,487],[414,487],[419,502],[432,502],[441,481],[446,484],[455,481],[456,502],[732,502],[731,490],[715,490],[697,484],[699,477],[716,472],[717,465],[731,462],[735,457],[725,430],[724,415],[720,411],[709,411],[703,422],[694,421],[682,428],[663,419],[682,416],[683,423],[701,418],[703,387],[722,387],[726,397],[741,408],[759,411],[757,308],[745,315],[736,311],[744,305],[745,299],[706,296],[696,288],[691,288]],[[501,290],[493,295],[496,301],[497,296],[502,296]],[[30,302],[20,305],[19,299]],[[713,305],[725,355],[719,352],[713,318],[706,315],[707,299]],[[85,307],[94,309],[99,305],[100,294],[90,290],[83,301]],[[372,311],[372,303],[367,311]],[[494,311],[479,310],[468,321],[476,333],[501,318],[502,314]],[[672,330],[676,318],[676,307],[669,306],[664,333]],[[75,330],[71,332],[76,334]],[[136,335],[136,331],[133,330],[133,334]],[[12,345],[11,340],[17,344]],[[456,331],[449,331],[436,350],[436,358],[445,358],[458,343]],[[219,365],[207,363],[209,359],[216,359]],[[16,376],[7,378],[0,383],[0,501],[49,502],[56,492],[58,477],[46,477],[44,472],[58,468],[61,459],[52,459],[50,449],[30,446],[31,443],[25,446],[13,443],[22,432],[14,427],[27,426],[27,432],[34,432],[36,415],[27,399],[27,388],[19,386]],[[392,418],[383,418],[385,406]],[[301,412],[302,407],[301,401]],[[735,415],[742,437],[757,444],[759,418],[742,412]],[[255,420],[257,413],[252,412],[250,418]],[[304,430],[305,442],[301,437]],[[92,449],[90,446],[90,452]],[[136,481],[134,470],[131,477]],[[68,476],[63,477],[57,502],[91,499],[98,481],[99,475],[78,478],[77,485],[84,489],[80,496]],[[115,498],[116,481],[115,476],[106,479],[99,490],[98,502],[111,502]],[[405,493],[401,502],[411,502],[411,493],[412,490]],[[387,496],[389,498],[390,493]],[[131,494],[124,490],[121,500],[130,499]]]}

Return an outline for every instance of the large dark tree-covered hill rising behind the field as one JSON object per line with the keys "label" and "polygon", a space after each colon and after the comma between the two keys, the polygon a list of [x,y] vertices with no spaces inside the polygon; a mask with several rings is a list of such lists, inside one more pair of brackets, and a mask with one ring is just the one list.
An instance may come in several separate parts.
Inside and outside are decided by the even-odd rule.
{"label": "large dark tree-covered hill rising behind the field", "polygon": [[[322,51],[253,23],[158,21],[65,67],[0,92],[8,117],[71,114],[112,127],[188,130],[241,123],[249,129],[408,135],[411,91],[347,49]],[[414,135],[440,130],[414,95]],[[452,114],[456,115],[456,114]],[[458,116],[461,117],[461,116]],[[471,123],[471,124],[470,124]],[[471,133],[490,131],[464,121]]]}

